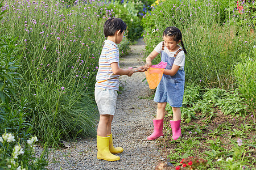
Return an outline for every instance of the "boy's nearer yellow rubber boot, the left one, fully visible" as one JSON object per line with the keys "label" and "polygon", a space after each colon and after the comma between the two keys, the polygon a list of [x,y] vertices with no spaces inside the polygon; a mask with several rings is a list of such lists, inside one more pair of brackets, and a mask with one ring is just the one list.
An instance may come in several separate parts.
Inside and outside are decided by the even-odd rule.
{"label": "boy's nearer yellow rubber boot, the left one, fully visible", "polygon": [[109,151],[109,137],[100,137],[97,135],[97,148],[98,148],[98,159],[116,161],[119,160],[119,156],[111,154]]}

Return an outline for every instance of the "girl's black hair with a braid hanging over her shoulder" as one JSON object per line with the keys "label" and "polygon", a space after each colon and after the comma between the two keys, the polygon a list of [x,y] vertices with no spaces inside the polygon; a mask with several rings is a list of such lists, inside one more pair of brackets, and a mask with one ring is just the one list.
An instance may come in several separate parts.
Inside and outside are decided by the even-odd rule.
{"label": "girl's black hair with a braid hanging over her shoulder", "polygon": [[163,32],[163,36],[172,37],[172,39],[176,42],[181,40],[180,41],[181,46],[184,50],[184,53],[187,54],[187,50],[184,47],[184,44],[183,44],[183,41],[182,41],[182,34],[181,34],[181,31],[180,31],[179,28],[177,28],[177,27],[167,27],[166,30],[164,30],[164,32]]}

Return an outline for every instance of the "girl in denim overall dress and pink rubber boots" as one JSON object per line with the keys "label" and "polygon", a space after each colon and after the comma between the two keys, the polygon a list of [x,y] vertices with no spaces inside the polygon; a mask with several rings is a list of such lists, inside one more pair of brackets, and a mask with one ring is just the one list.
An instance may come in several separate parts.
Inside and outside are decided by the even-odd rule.
{"label": "girl in denim overall dress and pink rubber boots", "polygon": [[[181,44],[181,46],[179,45]],[[154,132],[147,137],[154,140],[163,136],[163,118],[166,103],[168,102],[174,113],[174,119],[170,121],[172,128],[172,139],[181,136],[181,112],[184,83],[185,83],[185,54],[182,35],[179,28],[167,27],[163,32],[163,41],[156,45],[155,49],[146,58],[146,67],[152,66],[152,60],[161,53],[161,61],[167,62],[162,79],[156,88],[154,101],[158,103],[156,119],[153,120]]]}

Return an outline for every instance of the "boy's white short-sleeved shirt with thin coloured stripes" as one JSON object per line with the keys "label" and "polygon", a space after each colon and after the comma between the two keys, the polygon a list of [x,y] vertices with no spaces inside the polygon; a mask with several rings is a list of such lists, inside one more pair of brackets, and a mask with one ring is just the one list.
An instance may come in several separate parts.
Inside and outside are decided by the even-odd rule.
{"label": "boy's white short-sleeved shirt with thin coloured stripes", "polygon": [[[113,74],[111,63],[117,62],[119,66],[119,50],[117,47],[117,44],[115,44],[113,41],[105,40],[105,44],[102,48],[101,56],[98,60],[98,73],[96,76],[96,84],[95,88],[105,90],[106,88],[110,90],[117,90],[119,88],[119,78],[113,78],[115,76],[118,76],[116,74]],[[107,80],[105,82],[100,82],[101,80]]]}

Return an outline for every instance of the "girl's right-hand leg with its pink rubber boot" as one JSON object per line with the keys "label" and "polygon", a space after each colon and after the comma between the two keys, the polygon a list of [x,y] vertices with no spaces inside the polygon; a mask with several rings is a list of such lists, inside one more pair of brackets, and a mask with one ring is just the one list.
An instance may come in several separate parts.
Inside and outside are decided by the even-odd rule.
{"label": "girl's right-hand leg with its pink rubber boot", "polygon": [[172,112],[174,113],[174,119],[170,120],[170,124],[172,128],[172,139],[175,141],[181,137],[181,111],[180,108],[172,107]]}

